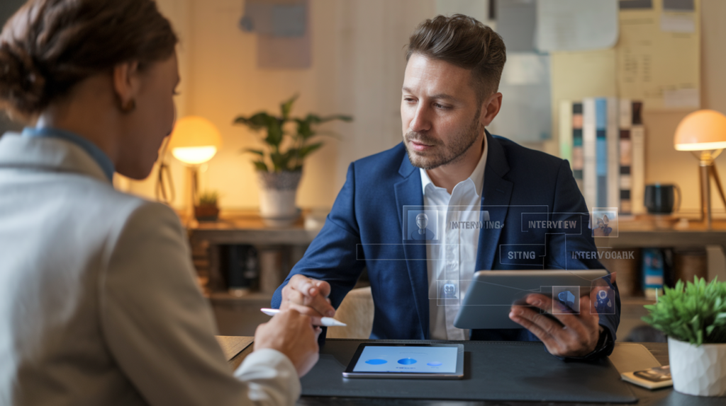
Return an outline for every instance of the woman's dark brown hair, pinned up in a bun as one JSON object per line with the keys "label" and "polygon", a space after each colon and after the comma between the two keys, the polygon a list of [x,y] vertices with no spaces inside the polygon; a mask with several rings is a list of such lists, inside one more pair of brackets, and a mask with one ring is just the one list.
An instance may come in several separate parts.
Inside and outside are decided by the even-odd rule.
{"label": "woman's dark brown hair, pinned up in a bun", "polygon": [[92,75],[171,57],[176,42],[153,0],[28,0],[0,33],[0,109],[30,119]]}

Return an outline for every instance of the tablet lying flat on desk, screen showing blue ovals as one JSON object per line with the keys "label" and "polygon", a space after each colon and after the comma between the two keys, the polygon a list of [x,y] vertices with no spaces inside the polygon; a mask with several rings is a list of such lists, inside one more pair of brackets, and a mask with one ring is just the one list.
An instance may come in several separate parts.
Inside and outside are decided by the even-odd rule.
{"label": "tablet lying flat on desk, screen showing blue ovals", "polygon": [[343,376],[461,379],[464,344],[360,344]]}

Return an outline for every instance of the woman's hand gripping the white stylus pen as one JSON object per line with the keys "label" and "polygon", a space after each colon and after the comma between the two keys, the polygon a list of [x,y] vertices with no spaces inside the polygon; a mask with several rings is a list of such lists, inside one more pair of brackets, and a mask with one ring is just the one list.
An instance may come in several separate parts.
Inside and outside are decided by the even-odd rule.
{"label": "woman's hand gripping the white stylus pen", "polygon": [[298,376],[313,368],[319,358],[317,337],[320,329],[312,325],[309,316],[295,310],[282,310],[267,323],[257,326],[255,350],[271,348],[290,358]]}

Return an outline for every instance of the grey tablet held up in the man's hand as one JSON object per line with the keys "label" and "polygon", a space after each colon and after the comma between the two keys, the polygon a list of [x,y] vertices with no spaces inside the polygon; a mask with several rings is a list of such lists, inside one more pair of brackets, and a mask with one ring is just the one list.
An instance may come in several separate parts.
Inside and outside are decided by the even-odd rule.
{"label": "grey tablet held up in the man's hand", "polygon": [[[454,326],[459,329],[523,329],[510,320],[512,305],[525,305],[527,295],[541,293],[552,297],[551,313],[579,313],[579,297],[592,289],[611,297],[609,274],[604,269],[576,271],[478,271],[461,301]],[[590,311],[590,309],[583,309]],[[598,311],[598,313],[600,313]],[[603,313],[600,313],[603,314]]]}

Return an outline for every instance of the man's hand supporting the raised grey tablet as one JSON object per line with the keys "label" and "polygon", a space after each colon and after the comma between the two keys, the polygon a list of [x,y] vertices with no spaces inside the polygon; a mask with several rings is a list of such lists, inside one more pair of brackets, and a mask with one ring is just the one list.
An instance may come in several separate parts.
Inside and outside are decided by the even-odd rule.
{"label": "man's hand supporting the raised grey tablet", "polygon": [[[552,310],[552,299],[538,294],[527,297],[527,303],[536,308]],[[557,305],[557,304],[555,304]],[[554,314],[564,326],[549,316],[525,306],[513,306],[509,318],[520,323],[544,342],[547,351],[557,357],[582,357],[595,351],[600,339],[600,326],[590,297],[580,297],[580,314]]]}

